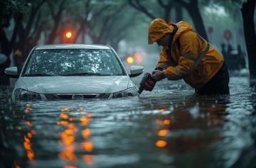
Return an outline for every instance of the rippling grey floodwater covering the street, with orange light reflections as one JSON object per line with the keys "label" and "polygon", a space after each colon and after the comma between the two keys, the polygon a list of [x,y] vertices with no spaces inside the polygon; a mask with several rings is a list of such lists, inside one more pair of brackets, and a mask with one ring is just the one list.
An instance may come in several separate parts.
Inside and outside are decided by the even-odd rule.
{"label": "rippling grey floodwater covering the street, with orange light reflections", "polygon": [[11,103],[0,95],[0,167],[256,167],[256,91],[198,96],[164,80],[139,97]]}

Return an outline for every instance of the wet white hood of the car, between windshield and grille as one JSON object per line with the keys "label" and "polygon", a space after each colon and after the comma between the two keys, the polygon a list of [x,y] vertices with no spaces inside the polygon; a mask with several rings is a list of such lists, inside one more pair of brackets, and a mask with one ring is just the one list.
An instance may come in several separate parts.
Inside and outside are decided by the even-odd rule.
{"label": "wet white hood of the car, between windshield and grille", "polygon": [[28,91],[40,94],[110,94],[128,88],[127,76],[22,77]]}

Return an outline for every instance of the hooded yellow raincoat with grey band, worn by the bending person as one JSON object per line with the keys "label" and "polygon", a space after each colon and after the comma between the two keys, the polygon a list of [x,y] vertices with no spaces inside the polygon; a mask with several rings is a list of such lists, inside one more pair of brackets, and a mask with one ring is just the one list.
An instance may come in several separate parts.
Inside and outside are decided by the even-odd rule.
{"label": "hooded yellow raincoat with grey band, worn by the bending person", "polygon": [[[172,33],[172,23],[156,18],[149,26],[149,44],[156,42],[166,33]],[[195,89],[206,84],[223,65],[223,56],[215,50],[189,23],[180,21],[169,47],[162,47],[156,68],[165,69],[168,79],[183,79]],[[169,49],[169,50],[168,50]]]}

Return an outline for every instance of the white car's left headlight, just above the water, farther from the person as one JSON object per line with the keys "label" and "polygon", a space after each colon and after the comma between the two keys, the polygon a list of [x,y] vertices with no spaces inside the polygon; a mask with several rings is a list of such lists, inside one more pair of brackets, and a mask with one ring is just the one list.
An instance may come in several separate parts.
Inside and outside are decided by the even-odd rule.
{"label": "white car's left headlight, just above the water, farther from the person", "polygon": [[27,91],[25,89],[16,89],[14,92],[15,99],[17,100],[39,100],[41,99],[40,94]]}

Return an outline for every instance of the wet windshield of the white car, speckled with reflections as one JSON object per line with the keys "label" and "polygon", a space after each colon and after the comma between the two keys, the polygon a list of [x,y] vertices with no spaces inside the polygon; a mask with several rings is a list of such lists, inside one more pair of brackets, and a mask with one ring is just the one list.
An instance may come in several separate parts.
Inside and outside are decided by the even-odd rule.
{"label": "wet windshield of the white car, speckled with reflections", "polygon": [[112,50],[34,50],[23,76],[124,75]]}

